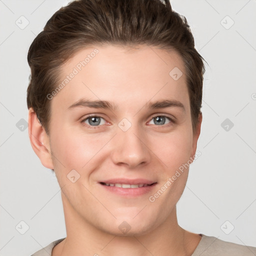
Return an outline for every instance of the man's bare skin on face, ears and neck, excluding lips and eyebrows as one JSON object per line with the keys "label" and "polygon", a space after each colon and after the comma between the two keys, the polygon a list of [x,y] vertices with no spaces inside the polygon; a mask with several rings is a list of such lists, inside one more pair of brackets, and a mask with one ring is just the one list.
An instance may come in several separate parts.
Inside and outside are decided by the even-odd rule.
{"label": "man's bare skin on face, ears and neck, excluding lips and eyebrows", "polygon": [[[196,152],[202,116],[193,133],[183,61],[177,52],[155,46],[95,45],[75,53],[61,67],[60,80],[95,48],[95,57],[50,100],[48,135],[29,109],[33,150],[46,168],[54,169],[61,187],[67,235],[52,255],[191,255],[201,236],[178,225],[175,206],[188,168],[149,201]],[[174,67],[183,72],[178,80],[169,75]],[[68,109],[81,98],[107,100],[117,108]],[[166,99],[181,102],[184,109],[146,107],[149,100]],[[81,122],[88,114],[103,117],[100,124]],[[162,115],[174,122],[165,118],[157,124],[154,117]],[[126,131],[118,126],[123,118],[131,124]],[[72,169],[80,175],[74,183],[67,178]],[[111,193],[98,183],[115,177],[157,183],[133,197]],[[131,227],[126,233],[118,228],[123,221]]]}

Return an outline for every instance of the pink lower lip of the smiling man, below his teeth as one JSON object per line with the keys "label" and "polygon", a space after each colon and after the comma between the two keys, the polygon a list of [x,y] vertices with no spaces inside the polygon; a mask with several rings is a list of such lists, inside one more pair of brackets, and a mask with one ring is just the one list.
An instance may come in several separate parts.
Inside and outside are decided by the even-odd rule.
{"label": "pink lower lip of the smiling man, below his teeth", "polygon": [[118,194],[118,195],[123,195],[123,196],[139,196],[143,195],[146,193],[149,193],[151,189],[153,189],[156,185],[156,183],[150,185],[150,186],[142,186],[142,187],[136,187],[136,188],[123,188],[123,187],[118,187],[118,186],[107,186],[100,184],[99,185],[103,186],[107,191]]}

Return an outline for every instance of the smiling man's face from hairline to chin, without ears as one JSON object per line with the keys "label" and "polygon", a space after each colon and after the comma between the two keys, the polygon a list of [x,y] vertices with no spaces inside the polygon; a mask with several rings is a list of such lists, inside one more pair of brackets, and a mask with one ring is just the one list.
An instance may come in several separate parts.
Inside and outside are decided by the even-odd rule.
{"label": "smiling man's face from hairline to chin, without ears", "polygon": [[61,81],[69,78],[50,102],[49,142],[64,211],[119,235],[146,233],[173,217],[188,169],[169,178],[197,141],[181,57],[153,46],[95,46],[76,53],[61,73]]}

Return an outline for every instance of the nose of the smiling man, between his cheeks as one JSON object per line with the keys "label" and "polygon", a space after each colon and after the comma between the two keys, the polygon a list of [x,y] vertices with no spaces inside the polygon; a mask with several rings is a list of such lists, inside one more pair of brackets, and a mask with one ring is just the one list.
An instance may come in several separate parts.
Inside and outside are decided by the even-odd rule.
{"label": "nose of the smiling man, between his cheeks", "polygon": [[112,139],[112,161],[117,165],[135,168],[150,161],[150,149],[146,133],[136,125],[123,131],[117,127],[117,134]]}

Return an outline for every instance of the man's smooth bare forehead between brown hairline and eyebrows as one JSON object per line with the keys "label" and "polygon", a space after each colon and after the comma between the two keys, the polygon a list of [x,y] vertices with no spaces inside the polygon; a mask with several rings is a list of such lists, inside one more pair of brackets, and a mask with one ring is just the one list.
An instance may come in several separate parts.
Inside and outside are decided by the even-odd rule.
{"label": "man's smooth bare forehead between brown hairline and eyebrows", "polygon": [[51,103],[65,108],[82,97],[134,107],[150,99],[178,99],[184,105],[189,100],[180,55],[148,45],[81,49],[61,66],[59,83],[63,86]]}

